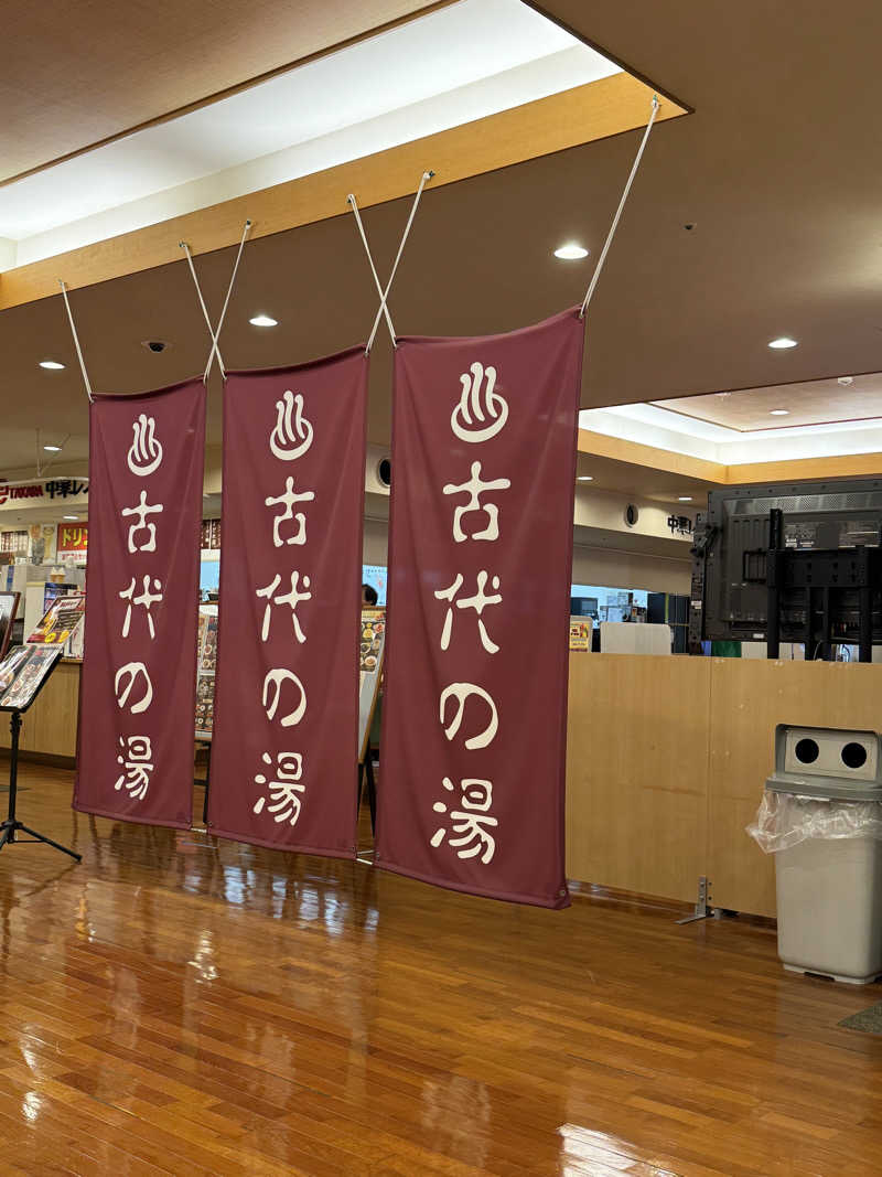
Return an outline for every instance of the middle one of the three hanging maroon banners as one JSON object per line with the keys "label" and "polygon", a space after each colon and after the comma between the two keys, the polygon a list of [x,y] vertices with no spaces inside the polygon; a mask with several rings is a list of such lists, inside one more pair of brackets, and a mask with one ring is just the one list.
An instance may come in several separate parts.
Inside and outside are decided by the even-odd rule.
{"label": "middle one of the three hanging maroon banners", "polygon": [[208,827],[355,856],[365,348],[229,373]]}

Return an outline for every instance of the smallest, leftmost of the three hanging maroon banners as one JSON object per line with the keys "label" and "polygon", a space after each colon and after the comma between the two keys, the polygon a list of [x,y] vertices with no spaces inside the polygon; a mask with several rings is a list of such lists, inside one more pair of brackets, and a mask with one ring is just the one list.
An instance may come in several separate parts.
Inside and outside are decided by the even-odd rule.
{"label": "smallest, leftmost of the three hanging maroon banners", "polygon": [[89,558],[74,809],[189,829],[201,380],[89,407]]}

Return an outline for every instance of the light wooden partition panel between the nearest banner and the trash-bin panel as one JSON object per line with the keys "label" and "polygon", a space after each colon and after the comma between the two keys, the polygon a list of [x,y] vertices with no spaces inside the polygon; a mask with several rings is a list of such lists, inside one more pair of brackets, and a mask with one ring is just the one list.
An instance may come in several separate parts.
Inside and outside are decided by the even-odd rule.
{"label": "light wooden partition panel between the nearest banner and the trash-bin panel", "polygon": [[572,654],[569,878],[693,900],[707,844],[710,660]]}

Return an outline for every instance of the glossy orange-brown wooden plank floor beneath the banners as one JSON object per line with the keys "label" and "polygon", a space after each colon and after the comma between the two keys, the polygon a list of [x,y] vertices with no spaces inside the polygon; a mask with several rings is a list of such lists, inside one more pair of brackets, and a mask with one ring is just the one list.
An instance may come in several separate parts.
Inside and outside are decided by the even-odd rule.
{"label": "glossy orange-brown wooden plank floor beneath the banners", "polygon": [[83,863],[0,853],[0,1173],[882,1172],[882,1038],[837,1026],[882,986],[786,975],[768,927],[472,899],[21,784]]}

